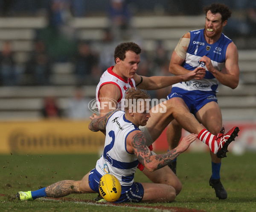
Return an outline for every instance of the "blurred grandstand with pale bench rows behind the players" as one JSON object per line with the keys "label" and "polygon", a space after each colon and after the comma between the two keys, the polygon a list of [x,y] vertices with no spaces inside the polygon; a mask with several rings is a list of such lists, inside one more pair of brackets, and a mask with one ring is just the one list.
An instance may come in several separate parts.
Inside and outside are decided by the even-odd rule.
{"label": "blurred grandstand with pale bench rows behind the players", "polygon": [[[63,14],[61,14],[62,16],[66,15],[66,18],[58,20],[59,23],[57,21],[52,23],[54,22],[54,20],[52,21],[54,17],[52,17],[53,12],[51,12],[50,8],[55,2],[62,1],[46,1],[48,4],[41,2],[43,1],[39,1],[37,5],[34,4],[29,7],[26,7],[26,3],[29,4],[30,1],[16,1],[16,5],[9,3],[5,7],[3,7],[2,3],[2,8],[5,11],[2,10],[0,17],[0,47],[2,49],[6,42],[10,43],[14,54],[14,62],[20,68],[20,76],[17,76],[17,78],[19,77],[17,82],[12,84],[7,82],[5,84],[2,79],[2,85],[0,86],[0,120],[2,121],[40,119],[43,98],[49,95],[56,96],[60,107],[65,111],[67,109],[67,100],[73,95],[73,90],[78,83],[82,85],[89,98],[94,98],[97,77],[100,73],[96,75],[94,81],[93,76],[86,75],[87,78],[91,77],[90,83],[86,84],[88,79],[85,79],[84,83],[78,82],[75,72],[76,61],[74,59],[76,49],[74,48],[79,42],[87,43],[99,60],[102,43],[109,48],[109,54],[109,52],[113,52],[116,42],[133,40],[143,48],[143,59],[154,61],[154,57],[157,57],[156,49],[159,45],[166,51],[166,56],[169,59],[181,35],[204,26],[203,13],[193,14],[194,12],[191,11],[193,8],[191,10],[188,8],[179,10],[180,5],[175,4],[175,1],[172,1],[173,4],[167,4],[167,1],[161,1],[160,3],[152,0],[142,0],[138,3],[127,1],[127,6],[131,12],[130,17],[127,17],[130,20],[127,24],[128,26],[126,26],[126,34],[129,35],[112,38],[106,45],[106,42],[104,43],[106,31],[115,31],[110,14],[108,14],[111,6],[110,1],[97,0],[94,4],[91,1],[85,1],[85,5],[82,5],[80,10],[75,5],[66,5],[64,7],[65,11],[62,11]],[[67,3],[68,1],[63,2]],[[125,3],[125,1],[120,2]],[[208,2],[211,3],[211,1]],[[231,4],[231,1],[225,2]],[[55,6],[58,7],[58,5]],[[193,7],[198,7],[200,9],[197,9],[197,11],[202,11],[203,4],[198,1],[198,4]],[[248,9],[245,3],[238,4],[237,7],[232,5],[231,8],[233,9],[233,16],[224,33],[235,42],[239,49],[241,77],[239,86],[235,90],[219,86],[218,102],[224,119],[255,120],[256,37],[255,34],[254,36],[250,34]],[[236,30],[233,22],[239,23],[241,28]],[[49,29],[49,25],[53,25],[52,28],[61,31],[66,37],[63,38],[61,35],[57,37],[48,35],[47,37],[47,33],[50,34],[54,31]],[[52,41],[50,40],[51,36],[53,37]],[[62,42],[60,41],[61,39]],[[38,40],[43,40],[46,43],[48,51],[46,53],[51,56],[51,71],[47,72],[49,75],[47,77],[48,81],[40,83],[35,82],[35,77],[31,76],[33,71],[28,71],[27,68],[27,66],[31,65],[28,62],[35,51],[35,42]],[[59,41],[58,43],[56,42],[57,40]],[[110,42],[112,42],[112,45]],[[63,45],[67,45],[68,49],[64,48]],[[61,48],[60,51],[62,52],[56,48]],[[70,53],[67,53],[69,50]],[[64,53],[64,56],[61,53]],[[102,73],[105,70],[100,70],[102,67],[104,66],[99,66],[95,70]],[[159,67],[151,64],[146,69],[148,69],[145,70],[148,75],[152,73],[157,75]]]}

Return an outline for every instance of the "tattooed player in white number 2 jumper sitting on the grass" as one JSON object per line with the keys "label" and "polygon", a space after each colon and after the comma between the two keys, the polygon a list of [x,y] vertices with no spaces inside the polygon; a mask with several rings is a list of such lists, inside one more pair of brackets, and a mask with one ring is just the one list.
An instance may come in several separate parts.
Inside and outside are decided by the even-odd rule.
{"label": "tattooed player in white number 2 jumper sitting on the grass", "polygon": [[[75,193],[99,193],[99,180],[105,174],[112,174],[119,180],[122,188],[116,202],[170,202],[174,201],[177,191],[169,184],[134,182],[134,173],[140,163],[149,172],[168,165],[180,153],[187,150],[195,141],[197,134],[182,139],[174,150],[166,154],[155,155],[146,145],[145,136],[139,126],[145,126],[150,118],[150,105],[145,99],[150,96],[143,90],[130,88],[126,99],[131,99],[125,112],[115,110],[105,116],[90,116],[92,131],[106,130],[104,153],[96,162],[95,169],[88,172],[80,181],[64,180],[36,191],[18,192],[21,201],[35,200],[40,197],[63,197]],[[138,100],[140,104],[137,104]],[[131,105],[137,105],[131,107]],[[161,178],[162,176],[159,176]]]}

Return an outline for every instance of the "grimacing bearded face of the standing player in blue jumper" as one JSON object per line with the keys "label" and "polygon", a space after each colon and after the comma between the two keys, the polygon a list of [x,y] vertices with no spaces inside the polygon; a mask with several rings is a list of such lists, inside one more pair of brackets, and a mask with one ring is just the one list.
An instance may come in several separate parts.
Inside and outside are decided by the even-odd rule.
{"label": "grimacing bearded face of the standing player in blue jumper", "polygon": [[225,20],[223,23],[221,22],[220,13],[212,14],[212,12],[209,10],[206,14],[206,19],[205,19],[205,26],[204,26],[205,36],[208,38],[218,37],[222,32],[222,28],[226,24],[227,24],[227,20]]}

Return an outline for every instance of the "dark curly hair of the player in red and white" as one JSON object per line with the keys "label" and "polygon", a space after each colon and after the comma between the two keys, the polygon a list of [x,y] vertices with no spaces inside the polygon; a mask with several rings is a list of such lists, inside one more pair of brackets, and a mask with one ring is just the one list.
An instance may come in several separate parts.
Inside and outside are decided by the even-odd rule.
{"label": "dark curly hair of the player in red and white", "polygon": [[140,54],[141,48],[139,45],[137,45],[134,42],[123,42],[120,43],[118,46],[116,46],[115,49],[115,63],[116,63],[116,58],[119,57],[121,60],[125,59],[125,53],[126,51],[134,51],[136,54]]}

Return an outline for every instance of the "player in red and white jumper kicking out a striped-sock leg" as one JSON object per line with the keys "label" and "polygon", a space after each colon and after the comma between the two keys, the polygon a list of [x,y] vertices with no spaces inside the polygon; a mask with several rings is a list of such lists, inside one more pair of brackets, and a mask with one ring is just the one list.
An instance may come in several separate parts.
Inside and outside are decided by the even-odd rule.
{"label": "player in red and white jumper kicking out a striped-sock leg", "polygon": [[[102,74],[96,90],[96,100],[100,109],[100,116],[104,116],[104,114],[117,107],[112,99],[116,102],[122,102],[122,99],[125,96],[126,88],[137,86],[138,88],[145,90],[156,90],[173,85],[175,82],[185,82],[195,77],[202,79],[205,76],[205,68],[201,67],[198,67],[194,71],[191,71],[185,75],[179,76],[139,76],[136,72],[140,63],[140,52],[140,47],[133,42],[121,43],[116,47],[114,54],[116,64],[113,67],[108,68],[108,70]],[[100,99],[104,99],[104,104],[102,104]],[[109,104],[105,104],[106,102]],[[111,108],[104,107],[106,105],[111,105]],[[119,104],[118,107],[122,109],[121,106],[122,104]],[[232,132],[230,131],[229,133],[232,135],[230,136],[229,133],[224,135],[226,136],[226,139],[222,143],[220,140],[223,140],[223,135],[217,135],[216,137],[208,132],[207,134],[204,134],[203,132],[205,129],[201,129],[202,126],[195,119],[195,117],[186,110],[183,111],[184,113],[178,113],[179,110],[177,110],[177,107],[178,105],[175,105],[175,101],[172,101],[172,104],[169,104],[167,107],[166,116],[164,114],[159,115],[159,113],[156,113],[157,115],[154,115],[153,120],[150,120],[152,121],[151,126],[153,126],[150,130],[148,130],[147,127],[140,128],[145,135],[148,147],[158,138],[158,136],[160,136],[164,128],[172,121],[173,118],[178,119],[180,117],[187,118],[187,125],[192,127],[191,131],[197,131],[198,133],[196,134],[200,134],[198,139],[201,139],[201,141],[206,143],[208,146],[210,144],[209,147],[215,154],[217,152],[225,153],[228,144],[237,136],[237,130],[235,133],[234,130]],[[151,113],[151,115],[153,114],[154,113]],[[162,119],[161,117],[163,116],[167,118]],[[198,131],[198,129],[201,130]],[[223,146],[221,146],[221,144],[223,144]],[[139,168],[152,182],[169,184],[175,188],[177,194],[180,192],[182,185],[177,176],[168,167],[163,167],[162,169],[154,172],[149,172],[148,170],[144,169],[141,164],[139,165]]]}

